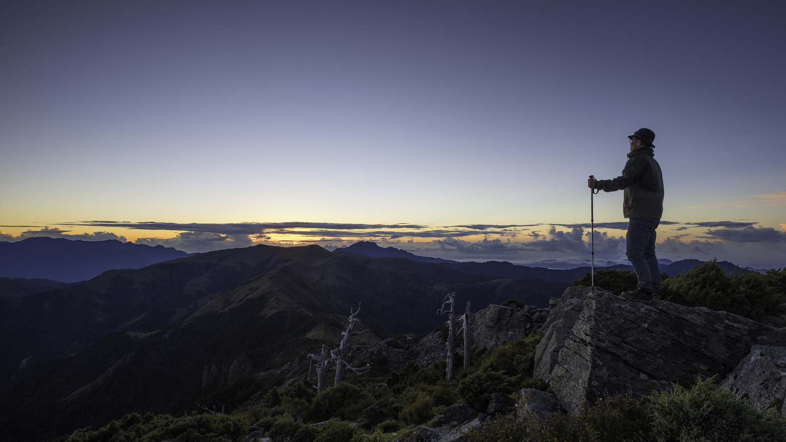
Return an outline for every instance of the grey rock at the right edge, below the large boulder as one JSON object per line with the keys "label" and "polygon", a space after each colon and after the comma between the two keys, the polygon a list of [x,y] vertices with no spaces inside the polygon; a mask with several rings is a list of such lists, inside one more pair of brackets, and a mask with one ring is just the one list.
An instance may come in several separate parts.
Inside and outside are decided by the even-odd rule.
{"label": "grey rock at the right edge, below the large boulder", "polygon": [[754,345],[751,352],[719,386],[747,398],[758,411],[774,408],[786,417],[786,347]]}

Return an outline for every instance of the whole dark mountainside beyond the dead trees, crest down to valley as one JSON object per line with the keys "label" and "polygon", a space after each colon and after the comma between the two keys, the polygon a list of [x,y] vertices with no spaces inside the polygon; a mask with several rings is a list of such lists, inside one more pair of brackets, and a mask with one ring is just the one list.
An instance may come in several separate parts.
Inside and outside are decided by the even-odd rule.
{"label": "whole dark mountainside beyond the dead trees, crest down to valley", "polygon": [[[439,326],[444,317],[435,311],[450,291],[476,310],[509,299],[545,306],[566,286],[317,245],[255,245],[107,271],[0,300],[0,341],[9,343],[0,402],[25,411],[6,418],[8,425],[24,421],[47,436],[130,410],[175,413],[218,394],[230,379],[278,370],[298,356],[303,370],[307,352],[337,346],[361,302],[356,330],[370,331],[360,339],[379,341]],[[17,416],[13,410],[6,416]],[[86,415],[91,420],[83,423]]]}

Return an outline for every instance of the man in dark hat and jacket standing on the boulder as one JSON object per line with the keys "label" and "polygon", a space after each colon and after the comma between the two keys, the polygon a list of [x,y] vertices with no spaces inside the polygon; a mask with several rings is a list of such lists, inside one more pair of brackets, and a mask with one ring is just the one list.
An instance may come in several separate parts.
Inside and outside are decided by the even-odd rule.
{"label": "man in dark hat and jacket standing on the boulder", "polygon": [[623,293],[632,300],[652,300],[660,289],[660,267],[655,256],[656,228],[663,215],[663,175],[655,160],[655,132],[641,128],[629,135],[630,153],[623,175],[588,179],[590,189],[624,189],[623,215],[629,218],[626,255],[638,278],[638,288]]}

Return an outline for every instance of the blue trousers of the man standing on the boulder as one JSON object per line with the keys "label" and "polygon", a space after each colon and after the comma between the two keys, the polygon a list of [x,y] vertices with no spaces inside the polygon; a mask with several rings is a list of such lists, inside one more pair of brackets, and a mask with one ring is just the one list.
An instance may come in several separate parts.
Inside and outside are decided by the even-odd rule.
{"label": "blue trousers of the man standing on the boulder", "polygon": [[638,286],[649,291],[660,289],[660,267],[655,256],[655,230],[659,224],[658,218],[631,218],[625,237],[625,254],[634,267]]}

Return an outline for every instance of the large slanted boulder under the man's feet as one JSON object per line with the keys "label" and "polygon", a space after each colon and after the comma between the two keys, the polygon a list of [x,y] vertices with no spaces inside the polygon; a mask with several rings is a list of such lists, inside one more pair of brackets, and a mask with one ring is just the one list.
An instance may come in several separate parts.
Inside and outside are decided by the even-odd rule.
{"label": "large slanted boulder under the man's feet", "polygon": [[534,374],[578,413],[601,397],[725,376],[754,344],[784,346],[786,332],[725,311],[571,287],[545,324]]}

